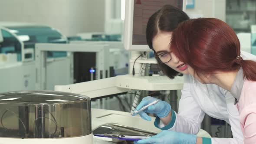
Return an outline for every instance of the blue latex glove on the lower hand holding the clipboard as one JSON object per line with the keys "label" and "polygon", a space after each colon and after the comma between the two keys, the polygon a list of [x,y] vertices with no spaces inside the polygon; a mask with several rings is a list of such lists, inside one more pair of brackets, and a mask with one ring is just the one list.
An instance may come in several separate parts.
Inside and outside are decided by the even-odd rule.
{"label": "blue latex glove on the lower hand holding the clipboard", "polygon": [[134,144],[196,144],[196,142],[196,135],[164,130],[150,138],[134,141]]}

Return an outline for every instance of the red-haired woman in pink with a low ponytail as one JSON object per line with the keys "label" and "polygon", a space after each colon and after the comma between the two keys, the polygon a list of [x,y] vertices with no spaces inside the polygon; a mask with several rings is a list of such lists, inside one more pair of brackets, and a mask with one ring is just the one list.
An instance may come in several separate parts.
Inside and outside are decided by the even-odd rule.
{"label": "red-haired woman in pink with a low ponytail", "polygon": [[171,52],[203,84],[231,92],[240,114],[244,144],[256,144],[256,62],[240,55],[233,29],[215,18],[191,19],[174,30]]}

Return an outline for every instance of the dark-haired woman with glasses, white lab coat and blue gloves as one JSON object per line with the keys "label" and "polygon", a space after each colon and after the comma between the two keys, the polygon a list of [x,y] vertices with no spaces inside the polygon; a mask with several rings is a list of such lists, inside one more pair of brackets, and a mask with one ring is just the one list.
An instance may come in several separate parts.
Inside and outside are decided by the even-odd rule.
{"label": "dark-haired woman with glasses, white lab coat and blue gloves", "polygon": [[[243,133],[239,126],[239,112],[234,105],[235,98],[229,91],[217,85],[209,84],[206,86],[195,82],[194,78],[188,75],[187,63],[175,56],[170,49],[172,32],[179,23],[188,19],[189,17],[183,11],[166,5],[148,20],[146,30],[148,46],[154,50],[158,64],[165,75],[172,79],[178,73],[184,74],[184,88],[181,91],[178,113],[173,111],[171,105],[165,101],[159,101],[158,104],[139,113],[141,118],[148,121],[151,118],[146,112],[156,114],[157,118],[154,124],[164,131],[158,134],[157,138],[152,137],[154,141],[150,138],[138,141],[138,143],[243,144]],[[201,37],[201,35],[198,36]],[[193,40],[193,37],[190,37],[190,40]],[[256,59],[256,56],[246,52],[242,52],[242,55],[244,59]],[[154,100],[155,98],[152,97],[143,98],[136,109],[139,110]],[[205,114],[229,123],[233,138],[196,137],[194,134],[200,130]]]}

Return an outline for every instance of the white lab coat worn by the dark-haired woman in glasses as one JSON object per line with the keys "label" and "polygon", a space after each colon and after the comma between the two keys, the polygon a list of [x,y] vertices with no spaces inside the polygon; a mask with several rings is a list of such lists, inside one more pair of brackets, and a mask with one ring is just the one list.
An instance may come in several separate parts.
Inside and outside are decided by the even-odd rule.
{"label": "white lab coat worn by the dark-haired woman in glasses", "polygon": [[[242,52],[243,59],[256,60],[256,56]],[[233,138],[211,138],[212,144],[243,144],[239,112],[230,92],[214,84],[201,84],[190,75],[184,75],[179,112],[171,131],[197,134],[205,114],[224,120],[231,125]],[[159,127],[164,125],[160,122]]]}

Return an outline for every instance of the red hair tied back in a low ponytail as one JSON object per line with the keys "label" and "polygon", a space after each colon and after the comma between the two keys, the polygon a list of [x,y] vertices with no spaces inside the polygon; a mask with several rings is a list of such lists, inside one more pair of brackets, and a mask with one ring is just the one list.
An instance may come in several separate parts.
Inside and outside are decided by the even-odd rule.
{"label": "red hair tied back in a low ponytail", "polygon": [[195,72],[231,72],[241,66],[246,79],[256,81],[256,62],[242,60],[240,42],[233,29],[215,18],[191,19],[179,24],[171,39],[171,50]]}

